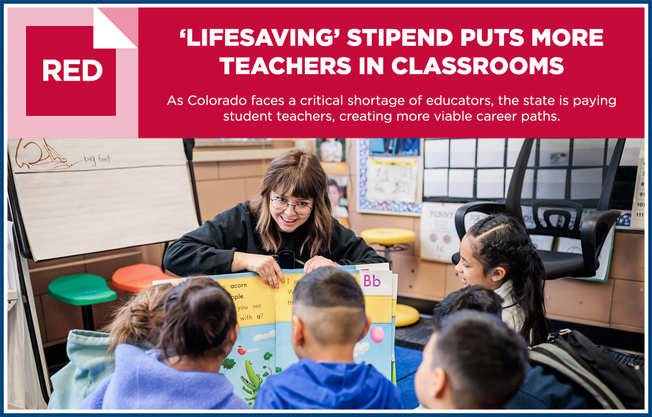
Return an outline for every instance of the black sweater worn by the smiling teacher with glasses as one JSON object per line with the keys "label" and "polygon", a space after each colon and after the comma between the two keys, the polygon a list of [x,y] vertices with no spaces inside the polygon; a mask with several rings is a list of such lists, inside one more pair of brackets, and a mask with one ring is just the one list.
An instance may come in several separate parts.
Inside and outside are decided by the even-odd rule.
{"label": "black sweater worn by the smiling teacher with glasses", "polygon": [[[256,218],[249,208],[249,202],[240,203],[173,242],[165,254],[165,267],[179,276],[230,274],[233,252],[274,254],[263,250],[255,229]],[[310,259],[310,242],[300,253],[306,237],[305,225],[299,226],[293,233],[281,235],[283,246],[293,248],[295,259],[304,263]],[[353,231],[334,219],[331,250],[318,255],[340,265],[387,262],[367,246],[363,238],[356,237]]]}

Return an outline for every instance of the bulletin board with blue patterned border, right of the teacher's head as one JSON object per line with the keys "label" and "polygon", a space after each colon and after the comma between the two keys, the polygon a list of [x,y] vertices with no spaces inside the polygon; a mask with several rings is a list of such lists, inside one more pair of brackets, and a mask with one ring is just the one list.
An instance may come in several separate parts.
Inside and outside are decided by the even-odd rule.
{"label": "bulletin board with blue patterned border, right of the teacher's head", "polygon": [[359,139],[358,212],[419,216],[421,139]]}

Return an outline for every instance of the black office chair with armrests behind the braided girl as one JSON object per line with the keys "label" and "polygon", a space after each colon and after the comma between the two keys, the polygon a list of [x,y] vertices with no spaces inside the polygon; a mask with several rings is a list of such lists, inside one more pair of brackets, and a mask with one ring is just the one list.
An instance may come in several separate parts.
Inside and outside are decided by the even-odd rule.
{"label": "black office chair with armrests behind the braided girl", "polygon": [[[467,213],[507,212],[531,235],[581,240],[582,253],[539,250],[548,280],[595,276],[604,240],[621,214],[609,207],[624,147],[625,139],[525,139],[505,204],[473,201],[460,207],[460,239]],[[458,263],[460,254],[452,261]]]}

